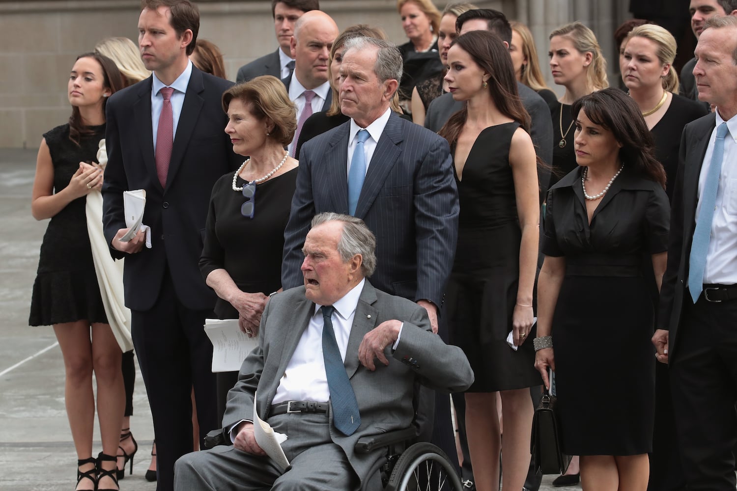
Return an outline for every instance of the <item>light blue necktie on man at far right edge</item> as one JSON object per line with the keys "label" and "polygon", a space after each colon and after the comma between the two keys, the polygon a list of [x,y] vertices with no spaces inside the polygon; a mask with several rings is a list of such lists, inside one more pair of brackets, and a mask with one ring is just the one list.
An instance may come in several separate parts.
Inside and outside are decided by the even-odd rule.
{"label": "light blue necktie on man at far right edge", "polygon": [[694,303],[699,300],[704,287],[706,255],[709,252],[711,223],[716,210],[716,191],[719,189],[719,174],[722,174],[722,160],[724,159],[724,136],[729,131],[727,123],[719,124],[719,127],[716,128],[714,153],[711,156],[704,189],[699,198],[701,208],[699,208],[699,216],[696,217],[694,241],[691,243],[691,255],[688,258],[688,291],[691,292]]}

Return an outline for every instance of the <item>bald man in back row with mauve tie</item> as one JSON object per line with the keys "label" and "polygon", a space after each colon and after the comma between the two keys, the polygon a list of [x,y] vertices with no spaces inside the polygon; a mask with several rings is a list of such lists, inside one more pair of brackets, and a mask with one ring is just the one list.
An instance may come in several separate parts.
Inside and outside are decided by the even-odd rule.
{"label": "bald man in back row with mauve tie", "polygon": [[297,130],[292,143],[287,146],[289,154],[295,155],[302,124],[312,113],[326,111],[332,102],[332,91],[327,80],[327,65],[330,48],[340,31],[335,21],[320,10],[302,15],[294,27],[290,45],[294,57],[294,71],[282,79],[289,99],[297,106]]}

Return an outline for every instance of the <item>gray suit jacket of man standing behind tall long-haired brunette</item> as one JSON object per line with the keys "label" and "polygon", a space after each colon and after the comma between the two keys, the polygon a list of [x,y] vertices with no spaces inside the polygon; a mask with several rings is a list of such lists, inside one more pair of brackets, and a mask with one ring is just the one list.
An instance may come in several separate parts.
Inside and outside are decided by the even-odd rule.
{"label": "gray suit jacket of man standing behind tall long-haired brunette", "polygon": [[[527,85],[517,82],[517,91],[520,93],[525,110],[530,114],[530,137],[535,146],[535,153],[540,160],[551,164],[553,163],[553,121],[550,107],[545,103],[545,99],[542,99]],[[463,102],[453,100],[453,94],[444,93],[427,106],[425,127],[438,133],[450,116],[461,110],[463,105]],[[542,199],[548,192],[550,174],[539,172],[538,179]]]}

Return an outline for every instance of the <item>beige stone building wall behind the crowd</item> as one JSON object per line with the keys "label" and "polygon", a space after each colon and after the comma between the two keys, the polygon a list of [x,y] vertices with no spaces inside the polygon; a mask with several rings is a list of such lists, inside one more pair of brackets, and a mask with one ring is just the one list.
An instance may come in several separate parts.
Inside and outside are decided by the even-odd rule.
{"label": "beige stone building wall behind the crowd", "polygon": [[[443,7],[447,0],[436,1]],[[228,77],[238,67],[276,49],[270,1],[199,1],[200,38],[222,49]],[[626,18],[626,0],[479,0],[531,25],[542,63],[548,32],[573,19],[587,22],[612,43]],[[108,36],[137,38],[138,0],[0,0],[0,148],[35,148],[41,135],[69,117],[66,80],[78,54]],[[405,42],[396,0],[321,0],[341,29],[379,25],[391,40]],[[613,27],[612,27],[613,26]],[[605,44],[605,46],[608,46]],[[607,53],[612,53],[609,49]]]}

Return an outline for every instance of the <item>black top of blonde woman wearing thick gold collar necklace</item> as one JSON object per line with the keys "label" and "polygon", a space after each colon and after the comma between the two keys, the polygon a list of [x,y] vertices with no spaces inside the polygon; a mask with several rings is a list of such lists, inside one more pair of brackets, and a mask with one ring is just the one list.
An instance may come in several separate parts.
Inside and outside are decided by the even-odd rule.
{"label": "black top of blonde woman wearing thick gold collar necklace", "polygon": [[704,105],[674,93],[671,105],[663,118],[652,127],[651,133],[655,138],[655,157],[663,164],[668,176],[668,182],[666,183],[668,199],[673,197],[673,183],[676,182],[678,149],[681,144],[683,127],[694,119],[699,119],[707,114],[708,111]]}

